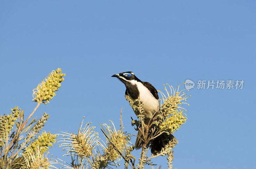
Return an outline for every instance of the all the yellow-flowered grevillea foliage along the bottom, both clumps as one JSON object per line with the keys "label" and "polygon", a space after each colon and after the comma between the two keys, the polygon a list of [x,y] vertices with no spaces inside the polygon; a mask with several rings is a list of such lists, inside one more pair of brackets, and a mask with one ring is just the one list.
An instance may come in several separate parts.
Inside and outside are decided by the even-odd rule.
{"label": "all the yellow-flowered grevillea foliage along the bottom, both clumps", "polygon": [[[91,123],[84,124],[84,119],[76,134],[61,132],[60,147],[63,147],[65,152],[63,156],[71,158],[70,163],[59,158],[61,162],[47,158],[47,151],[56,142],[57,135],[41,132],[49,118],[48,114],[44,113],[39,119],[32,118],[32,116],[41,103],[49,103],[56,95],[55,91],[59,90],[64,76],[65,74],[62,74],[61,69],[58,68],[38,84],[37,88],[33,90],[34,99],[32,100],[37,105],[26,120],[24,119],[24,110],[18,107],[11,109],[10,114],[0,116],[0,168],[56,168],[53,164],[59,163],[65,168],[105,169],[120,166],[119,163],[123,159],[126,169],[128,166],[140,169],[145,168],[145,165],[153,166],[152,159],[159,156],[166,156],[167,165],[172,168],[173,148],[178,144],[177,139],[173,137],[164,144],[161,151],[153,152],[152,141],[163,133],[174,134],[181,125],[186,123],[187,117],[183,113],[183,110],[186,111],[186,109],[182,107],[182,104],[188,97],[184,92],[179,92],[180,86],[175,89],[169,86],[171,94],[165,88],[167,95],[159,91],[162,95],[161,107],[147,125],[144,123],[143,102],[139,99],[133,102],[128,95],[125,95],[132,109],[137,112],[138,119],[132,120],[132,126],[135,125],[135,130],[140,130],[142,133],[140,138],[143,140],[143,145],[139,159],[135,158],[134,145],[131,143],[131,137],[134,135],[131,136],[123,131],[122,109],[120,129],[116,129],[112,121],[109,124],[100,125],[100,130],[105,136],[104,139],[101,139],[99,133],[94,131],[96,127],[90,126]],[[28,122],[30,118],[31,120]],[[150,148],[152,153],[148,155]]]}

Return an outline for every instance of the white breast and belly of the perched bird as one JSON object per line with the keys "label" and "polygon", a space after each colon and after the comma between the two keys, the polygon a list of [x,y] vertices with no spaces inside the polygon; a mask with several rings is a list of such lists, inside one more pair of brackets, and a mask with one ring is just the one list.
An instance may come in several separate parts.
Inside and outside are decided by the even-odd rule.
{"label": "white breast and belly of the perched bird", "polygon": [[[145,119],[150,119],[153,117],[154,113],[158,111],[160,107],[159,100],[157,100],[152,93],[146,88],[141,82],[132,80],[133,85],[137,85],[140,92],[139,98],[142,102],[142,108],[145,110]],[[129,93],[128,93],[129,95]],[[130,96],[130,95],[129,95]],[[131,98],[132,99],[132,98]],[[133,100],[133,99],[132,99]],[[134,101],[134,100],[133,100]]]}

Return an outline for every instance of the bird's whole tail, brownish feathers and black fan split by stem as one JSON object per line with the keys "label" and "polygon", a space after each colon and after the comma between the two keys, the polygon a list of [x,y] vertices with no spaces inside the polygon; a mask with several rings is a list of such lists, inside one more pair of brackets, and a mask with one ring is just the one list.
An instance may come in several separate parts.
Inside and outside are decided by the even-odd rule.
{"label": "bird's whole tail, brownish feathers and black fan split by stem", "polygon": [[[164,148],[164,146],[166,144],[168,144],[169,141],[172,141],[172,140],[175,140],[178,144],[178,140],[171,133],[169,135],[167,133],[163,133],[160,136],[154,138],[150,144],[151,153],[154,155],[156,155],[156,153],[160,153],[162,148]],[[136,142],[135,142],[135,148],[140,149],[143,146],[143,144],[144,144],[143,136],[139,130],[138,136],[137,136]],[[148,145],[147,145],[147,147],[148,147]]]}

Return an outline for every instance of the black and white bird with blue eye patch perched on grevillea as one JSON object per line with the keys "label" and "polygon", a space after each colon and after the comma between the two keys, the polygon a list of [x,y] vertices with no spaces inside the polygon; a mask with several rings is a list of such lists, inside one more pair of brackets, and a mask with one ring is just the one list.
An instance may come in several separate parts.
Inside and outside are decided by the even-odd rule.
{"label": "black and white bird with blue eye patch perched on grevillea", "polygon": [[[144,123],[148,125],[150,119],[158,115],[160,110],[159,96],[156,88],[149,82],[141,81],[130,71],[114,74],[111,77],[116,77],[124,83],[126,87],[125,95],[128,95],[133,102],[136,99],[142,101],[142,108],[145,110],[143,114],[145,116]],[[134,113],[138,115],[137,112],[134,111]],[[141,139],[141,135],[142,133],[139,130],[135,141],[136,149],[140,149],[143,146],[144,141]],[[160,153],[161,149],[173,139],[178,143],[178,140],[171,133],[169,135],[163,133],[154,138],[150,143],[151,153],[154,155]]]}

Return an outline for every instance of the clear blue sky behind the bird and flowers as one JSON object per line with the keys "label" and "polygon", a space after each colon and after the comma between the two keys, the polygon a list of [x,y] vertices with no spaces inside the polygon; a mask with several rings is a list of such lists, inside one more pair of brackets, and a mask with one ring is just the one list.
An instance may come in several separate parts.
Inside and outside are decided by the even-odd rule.
{"label": "clear blue sky behind the bird and flowers", "polygon": [[[1,114],[19,106],[28,115],[32,89],[58,67],[65,81],[36,112],[50,114],[44,130],[52,133],[77,132],[83,116],[98,131],[109,119],[118,127],[123,106],[134,134],[116,73],[132,71],[161,91],[186,79],[244,80],[243,89],[188,92],[173,165],[255,168],[255,9],[253,0],[1,1]],[[58,144],[51,153],[62,156]],[[154,162],[166,168],[165,157]]]}

